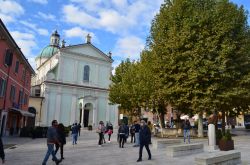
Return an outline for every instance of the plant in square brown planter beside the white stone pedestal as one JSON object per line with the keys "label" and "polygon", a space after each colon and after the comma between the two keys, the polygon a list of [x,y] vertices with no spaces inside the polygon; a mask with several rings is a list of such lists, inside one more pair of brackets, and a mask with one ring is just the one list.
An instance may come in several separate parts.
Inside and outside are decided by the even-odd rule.
{"label": "plant in square brown planter beside the white stone pedestal", "polygon": [[234,149],[234,141],[232,135],[228,129],[219,141],[219,148],[221,151],[229,151]]}

